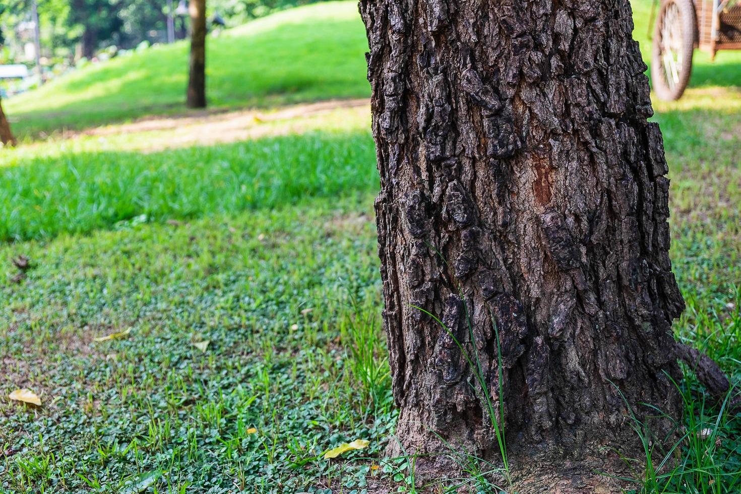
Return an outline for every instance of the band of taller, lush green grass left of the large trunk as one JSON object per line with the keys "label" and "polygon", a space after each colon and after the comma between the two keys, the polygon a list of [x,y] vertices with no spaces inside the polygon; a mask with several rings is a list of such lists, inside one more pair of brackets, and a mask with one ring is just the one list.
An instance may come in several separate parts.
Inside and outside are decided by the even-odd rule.
{"label": "band of taller, lush green grass left of the large trunk", "polygon": [[159,153],[69,153],[0,168],[0,239],[88,233],[296,204],[378,187],[367,131]]}

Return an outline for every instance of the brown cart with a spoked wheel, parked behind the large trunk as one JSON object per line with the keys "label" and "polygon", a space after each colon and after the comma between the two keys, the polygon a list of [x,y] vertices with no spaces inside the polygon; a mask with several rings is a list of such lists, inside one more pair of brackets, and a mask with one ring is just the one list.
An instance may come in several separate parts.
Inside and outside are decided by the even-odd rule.
{"label": "brown cart with a spoked wheel, parked behind the large trunk", "polygon": [[695,48],[715,58],[741,49],[740,0],[662,0],[654,27],[651,81],[659,99],[684,93]]}

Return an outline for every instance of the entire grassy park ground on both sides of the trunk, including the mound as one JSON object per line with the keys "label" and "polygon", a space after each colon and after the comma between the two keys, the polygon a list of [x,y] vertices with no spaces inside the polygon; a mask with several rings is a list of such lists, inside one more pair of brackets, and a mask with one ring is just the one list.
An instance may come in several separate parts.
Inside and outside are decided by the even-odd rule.
{"label": "entire grassy park ground on both sides of the trunk, including the mound", "polygon": [[[649,5],[637,4],[639,34]],[[342,59],[336,73],[316,70],[316,59],[281,68],[273,63],[280,50],[265,48],[254,65],[231,67],[232,82],[221,89],[210,73],[213,101],[364,96],[365,35],[354,9],[328,3],[255,21],[230,33],[246,43],[239,49],[226,36],[213,40],[212,61],[216,50],[273,47],[276,33],[299,40],[310,25],[299,19],[310,13],[333,26],[313,26],[313,46],[333,44],[333,36],[359,40],[311,50]],[[357,48],[359,60],[335,48]],[[57,92],[58,107],[33,109],[31,96],[8,105],[27,105],[20,128],[32,134],[176,111],[167,104],[179,104],[185,76],[151,94],[153,106],[134,105],[143,101],[135,90],[123,84],[116,93],[113,79],[103,79],[136,60],[159,70],[169,62],[149,58],[158,50],[185,60],[182,46],[150,50],[90,68],[101,78],[98,93],[82,89],[82,79],[75,89],[70,77],[41,90]],[[731,83],[741,80],[739,64],[738,54],[721,53],[714,65],[700,57],[685,97],[654,105],[671,170],[671,257],[688,303],[675,331],[735,383],[741,92]],[[265,89],[279,79],[270,70],[294,69],[295,80],[312,82],[293,92]],[[238,70],[262,82],[241,85]],[[347,79],[320,82],[333,73]],[[3,151],[0,493],[360,494],[381,481],[411,492],[410,464],[382,458],[396,410],[379,322],[368,109],[294,110],[230,114],[247,122],[233,142],[203,140],[208,128],[225,136],[213,116]],[[54,112],[59,120],[44,119]],[[13,264],[19,256],[30,259],[25,272]],[[740,492],[741,414],[705,403],[691,373],[678,385],[686,436],[674,466],[659,470],[665,477],[634,474],[636,492]],[[43,406],[4,398],[19,387]],[[322,458],[355,439],[368,447]]]}

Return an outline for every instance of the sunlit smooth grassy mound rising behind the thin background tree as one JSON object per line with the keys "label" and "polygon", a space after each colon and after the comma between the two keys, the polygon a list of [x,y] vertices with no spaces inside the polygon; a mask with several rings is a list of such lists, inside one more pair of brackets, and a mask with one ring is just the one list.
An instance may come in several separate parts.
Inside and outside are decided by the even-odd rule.
{"label": "sunlit smooth grassy mound rising behind the thin background tree", "polygon": [[[21,138],[185,112],[188,50],[179,41],[90,65],[3,101]],[[370,96],[368,42],[355,1],[286,10],[207,39],[211,108]]]}

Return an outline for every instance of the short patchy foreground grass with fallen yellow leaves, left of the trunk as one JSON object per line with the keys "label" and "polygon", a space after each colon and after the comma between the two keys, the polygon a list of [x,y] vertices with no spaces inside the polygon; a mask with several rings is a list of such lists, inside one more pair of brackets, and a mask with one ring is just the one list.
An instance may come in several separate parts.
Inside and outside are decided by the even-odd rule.
{"label": "short patchy foreground grass with fallen yellow leaves, left of the trunk", "polygon": [[0,401],[0,492],[124,492],[158,471],[159,492],[362,481],[367,462],[315,457],[355,438],[371,445],[354,456],[377,455],[393,426],[385,358],[371,356],[375,387],[350,364],[381,341],[371,203],[2,247],[0,265],[25,253],[34,267],[2,283],[1,394],[32,387],[44,407]]}

